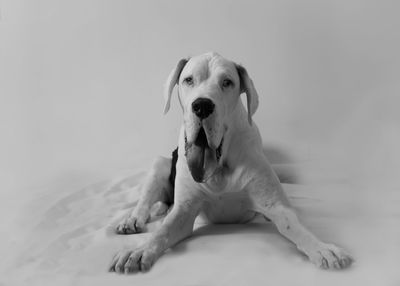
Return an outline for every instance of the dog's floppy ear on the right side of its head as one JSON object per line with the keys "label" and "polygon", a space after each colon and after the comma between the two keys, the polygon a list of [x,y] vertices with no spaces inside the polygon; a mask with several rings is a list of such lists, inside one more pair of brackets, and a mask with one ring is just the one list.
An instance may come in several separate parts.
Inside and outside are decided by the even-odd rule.
{"label": "dog's floppy ear on the right side of its head", "polygon": [[256,112],[258,107],[258,94],[254,87],[253,81],[247,73],[247,70],[243,66],[238,64],[236,64],[236,69],[238,71],[240,79],[240,93],[246,93],[248,120],[249,124],[251,125],[251,117]]}

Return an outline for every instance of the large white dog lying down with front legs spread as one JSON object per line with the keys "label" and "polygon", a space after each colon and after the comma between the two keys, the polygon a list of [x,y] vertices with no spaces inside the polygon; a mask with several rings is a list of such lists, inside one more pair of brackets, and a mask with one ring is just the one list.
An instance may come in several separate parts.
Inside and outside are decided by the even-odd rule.
{"label": "large white dog lying down with front legs spread", "polygon": [[[319,240],[290,206],[252,119],[258,94],[247,70],[217,53],[181,59],[167,79],[164,113],[175,86],[183,110],[178,148],[172,159],[154,162],[142,196],[116,232],[139,233],[156,202],[164,210],[173,205],[151,238],[116,254],[109,270],[148,271],[165,250],[192,234],[198,215],[211,223],[246,223],[256,214],[272,221],[317,266],[348,267],[352,257]],[[240,98],[243,93],[247,108]]]}

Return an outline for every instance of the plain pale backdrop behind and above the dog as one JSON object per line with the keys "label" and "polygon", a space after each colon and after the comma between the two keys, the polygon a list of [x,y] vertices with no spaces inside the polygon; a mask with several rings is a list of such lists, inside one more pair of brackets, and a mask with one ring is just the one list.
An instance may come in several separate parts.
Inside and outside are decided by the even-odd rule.
{"label": "plain pale backdrop behind and above the dog", "polygon": [[0,5],[4,212],[35,190],[169,155],[181,111],[174,99],[162,115],[164,80],[181,57],[211,50],[248,69],[264,141],[312,166],[299,170],[308,181],[399,182],[399,2]]}

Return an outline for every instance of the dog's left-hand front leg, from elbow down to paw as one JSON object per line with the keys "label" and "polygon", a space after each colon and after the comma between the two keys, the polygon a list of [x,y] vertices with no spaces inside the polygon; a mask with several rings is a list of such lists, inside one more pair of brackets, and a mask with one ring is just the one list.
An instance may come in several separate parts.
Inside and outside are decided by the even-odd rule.
{"label": "dog's left-hand front leg, from elbow down to paw", "polygon": [[109,271],[126,274],[148,271],[165,250],[192,234],[194,220],[199,210],[200,205],[196,202],[176,202],[162,226],[149,241],[134,250],[116,254]]}

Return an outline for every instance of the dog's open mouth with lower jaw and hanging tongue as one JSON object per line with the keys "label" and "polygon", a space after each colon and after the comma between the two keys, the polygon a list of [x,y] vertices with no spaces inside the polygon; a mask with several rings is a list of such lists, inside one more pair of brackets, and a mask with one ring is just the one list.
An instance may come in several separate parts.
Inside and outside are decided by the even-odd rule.
{"label": "dog's open mouth with lower jaw and hanging tongue", "polygon": [[222,156],[222,145],[224,138],[217,148],[211,148],[208,145],[207,135],[200,128],[197,137],[193,143],[188,143],[185,135],[185,155],[193,179],[198,183],[207,181],[219,166]]}

